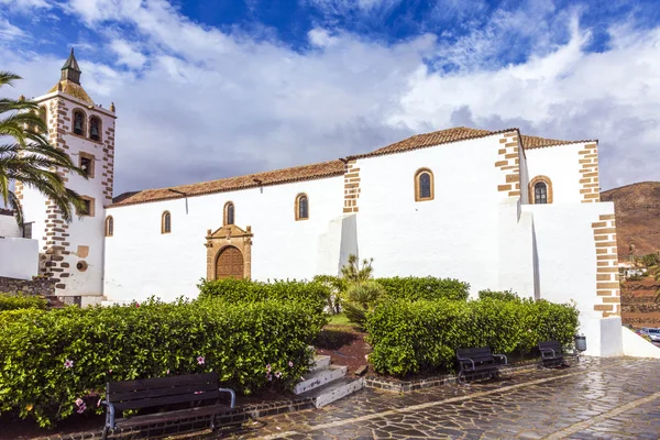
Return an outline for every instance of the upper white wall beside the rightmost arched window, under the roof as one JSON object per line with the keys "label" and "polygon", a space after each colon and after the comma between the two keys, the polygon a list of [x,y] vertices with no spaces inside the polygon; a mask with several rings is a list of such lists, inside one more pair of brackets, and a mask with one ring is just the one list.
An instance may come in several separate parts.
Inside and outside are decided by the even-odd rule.
{"label": "upper white wall beside the rightmost arched window, under the roof", "polygon": [[[593,142],[590,142],[593,143]],[[537,176],[547,176],[552,182],[553,204],[580,204],[582,185],[580,179],[580,155],[585,143],[526,150],[529,183]],[[529,197],[534,197],[531,194]]]}

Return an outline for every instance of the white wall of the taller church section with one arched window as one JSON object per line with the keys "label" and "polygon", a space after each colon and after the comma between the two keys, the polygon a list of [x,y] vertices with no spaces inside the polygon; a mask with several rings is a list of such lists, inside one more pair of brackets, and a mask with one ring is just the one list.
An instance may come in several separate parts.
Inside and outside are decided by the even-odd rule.
{"label": "white wall of the taller church section with one arched window", "polygon": [[[501,136],[360,160],[358,240],[376,276],[452,277],[472,294],[495,289],[499,275],[498,210],[506,193]],[[414,176],[429,168],[435,199],[415,201]]]}

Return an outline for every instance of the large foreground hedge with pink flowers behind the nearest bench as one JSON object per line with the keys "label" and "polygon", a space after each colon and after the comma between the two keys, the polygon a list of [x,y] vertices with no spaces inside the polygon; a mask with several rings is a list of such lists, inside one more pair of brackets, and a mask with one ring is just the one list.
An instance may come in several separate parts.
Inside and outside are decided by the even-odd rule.
{"label": "large foreground hedge with pink flowers behind the nearest bench", "polygon": [[[276,301],[6,314],[11,319],[0,318],[0,413],[16,411],[42,427],[70,416],[77,398],[102,394],[107,381],[218,372],[224,385],[244,394],[288,385],[306,372],[307,346],[326,322],[306,305]],[[268,381],[268,364],[279,378]],[[87,399],[96,407],[96,398]]]}

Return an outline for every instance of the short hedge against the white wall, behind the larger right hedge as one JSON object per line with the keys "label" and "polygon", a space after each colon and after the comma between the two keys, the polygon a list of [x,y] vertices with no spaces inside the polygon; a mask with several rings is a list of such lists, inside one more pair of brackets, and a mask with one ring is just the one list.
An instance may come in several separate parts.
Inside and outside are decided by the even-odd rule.
{"label": "short hedge against the white wall, behind the larger right hedge", "polygon": [[377,278],[376,282],[385,288],[392,299],[457,299],[466,300],[470,296],[470,284],[452,278],[398,277]]}

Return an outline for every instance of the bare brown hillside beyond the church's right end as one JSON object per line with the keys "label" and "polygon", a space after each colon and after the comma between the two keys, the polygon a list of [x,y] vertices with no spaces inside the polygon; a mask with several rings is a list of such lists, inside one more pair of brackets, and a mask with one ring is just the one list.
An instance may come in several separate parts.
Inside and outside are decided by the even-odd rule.
{"label": "bare brown hillside beyond the church's right end", "polygon": [[601,193],[602,201],[614,201],[618,257],[660,251],[660,182],[640,182]]}

